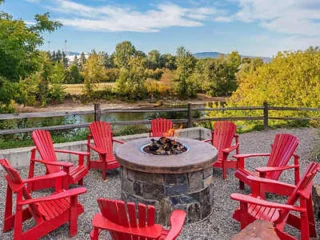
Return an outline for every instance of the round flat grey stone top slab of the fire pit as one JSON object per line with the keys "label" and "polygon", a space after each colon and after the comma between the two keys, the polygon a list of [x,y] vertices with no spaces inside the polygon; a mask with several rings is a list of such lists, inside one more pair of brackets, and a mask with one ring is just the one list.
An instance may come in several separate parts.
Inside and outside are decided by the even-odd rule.
{"label": "round flat grey stone top slab of the fire pit", "polygon": [[177,155],[153,155],[141,151],[151,143],[151,138],[129,141],[117,147],[118,162],[136,171],[148,173],[186,173],[209,168],[217,158],[217,150],[211,144],[189,138],[176,138],[188,147],[188,151]]}

